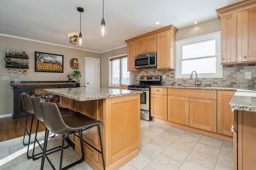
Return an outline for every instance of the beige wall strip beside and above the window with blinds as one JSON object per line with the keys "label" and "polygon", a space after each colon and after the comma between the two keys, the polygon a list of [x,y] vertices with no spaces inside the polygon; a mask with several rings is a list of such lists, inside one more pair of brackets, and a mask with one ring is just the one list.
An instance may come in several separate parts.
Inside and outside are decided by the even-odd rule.
{"label": "beige wall strip beside and above the window with blinds", "polygon": [[123,52],[126,54],[126,47],[115,49],[102,53],[100,57],[100,87],[102,88],[113,88],[108,86],[108,57],[112,57],[116,53]]}

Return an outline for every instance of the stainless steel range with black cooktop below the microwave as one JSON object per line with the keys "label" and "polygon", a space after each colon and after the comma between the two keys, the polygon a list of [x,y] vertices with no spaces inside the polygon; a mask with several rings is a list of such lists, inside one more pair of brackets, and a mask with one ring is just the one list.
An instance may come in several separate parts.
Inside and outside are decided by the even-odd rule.
{"label": "stainless steel range with black cooktop below the microwave", "polygon": [[138,90],[140,94],[140,119],[152,120],[150,116],[150,86],[162,85],[161,76],[140,76],[140,84],[129,85],[128,90]]}

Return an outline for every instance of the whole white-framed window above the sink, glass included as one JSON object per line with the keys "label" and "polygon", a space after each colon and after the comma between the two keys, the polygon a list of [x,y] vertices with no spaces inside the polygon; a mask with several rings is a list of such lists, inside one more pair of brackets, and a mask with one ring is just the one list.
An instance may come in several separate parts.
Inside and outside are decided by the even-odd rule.
{"label": "whole white-framed window above the sink, glass included", "polygon": [[176,41],[175,78],[221,78],[220,31]]}

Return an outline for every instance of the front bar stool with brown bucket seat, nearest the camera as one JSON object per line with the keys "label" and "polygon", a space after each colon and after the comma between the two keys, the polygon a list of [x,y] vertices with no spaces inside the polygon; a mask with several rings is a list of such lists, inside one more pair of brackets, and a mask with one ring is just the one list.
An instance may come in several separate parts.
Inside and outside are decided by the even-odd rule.
{"label": "front bar stool with brown bucket seat, nearest the camera", "polygon": [[[45,138],[44,138],[45,141],[44,141],[44,149],[43,149],[43,156],[42,156],[42,162],[41,162],[41,170],[43,170],[43,168],[44,168],[45,158],[48,160],[48,162],[50,163],[52,168],[56,169],[46,154],[46,148],[47,148],[47,142],[48,142],[47,137],[49,135],[49,131],[51,131],[52,133],[59,134],[59,135],[65,134],[62,139],[62,147],[61,147],[61,155],[60,155],[60,168],[59,169],[62,170],[62,169],[68,169],[68,168],[84,161],[83,142],[85,142],[85,143],[87,143],[87,142],[83,140],[82,132],[87,129],[90,129],[92,127],[95,127],[95,126],[98,127],[101,151],[96,149],[92,145],[90,145],[90,144],[89,145],[102,155],[102,163],[103,163],[103,168],[105,170],[104,155],[103,155],[103,149],[102,149],[102,140],[101,140],[100,126],[99,126],[100,124],[103,124],[103,122],[93,119],[91,117],[88,117],[82,113],[62,117],[60,110],[55,103],[46,103],[41,100],[40,105],[41,105],[42,111],[43,111],[44,123],[47,128]],[[69,135],[76,134],[76,133],[79,134],[82,157],[80,158],[80,160],[77,160],[76,162],[73,162],[72,164],[69,164],[68,166],[65,166],[64,168],[62,168],[64,140]]]}

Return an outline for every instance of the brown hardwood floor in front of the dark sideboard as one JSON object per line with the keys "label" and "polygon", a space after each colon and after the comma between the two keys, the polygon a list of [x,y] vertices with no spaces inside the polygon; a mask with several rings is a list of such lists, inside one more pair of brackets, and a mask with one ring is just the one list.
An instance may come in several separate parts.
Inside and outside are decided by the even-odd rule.
{"label": "brown hardwood floor in front of the dark sideboard", "polygon": [[[32,117],[28,119],[28,129],[30,129]],[[37,119],[34,117],[32,133],[36,133],[36,123]],[[26,125],[26,117],[20,119],[12,119],[12,117],[6,117],[0,119],[0,142],[6,141],[9,139],[14,139],[17,137],[22,137],[24,134],[24,129]],[[40,121],[38,126],[38,132],[45,131],[44,122]],[[26,134],[27,135],[27,134]]]}

